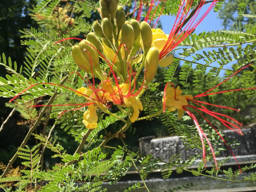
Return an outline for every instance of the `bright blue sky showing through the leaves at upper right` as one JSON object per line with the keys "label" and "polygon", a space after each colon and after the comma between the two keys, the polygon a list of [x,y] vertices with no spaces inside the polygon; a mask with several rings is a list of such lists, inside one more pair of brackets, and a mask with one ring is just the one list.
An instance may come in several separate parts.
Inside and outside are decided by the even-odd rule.
{"label": "bright blue sky showing through the leaves at upper right", "polygon": [[[205,5],[202,10],[200,11],[200,13],[204,13],[207,10],[207,6]],[[197,18],[200,18],[200,15],[198,15]],[[160,17],[161,23],[162,23],[162,27],[163,27],[163,31],[166,34],[169,34],[171,29],[172,29],[172,25],[174,23],[175,17],[174,16],[168,16],[168,15],[163,15]],[[223,29],[223,26],[221,25],[222,21],[220,20],[220,18],[218,18],[218,12],[213,12],[213,10],[211,10],[209,12],[209,14],[204,18],[204,20],[199,24],[199,26],[197,26],[196,30],[194,33],[199,34],[203,31],[216,31],[216,30],[220,30]],[[218,49],[218,48],[215,48]],[[204,51],[211,51],[212,48],[205,48]],[[202,51],[198,51],[197,53],[202,53]],[[174,53],[175,56],[178,56],[177,52]],[[193,60],[192,57],[187,57],[187,60]],[[204,64],[204,61],[200,61],[200,63]],[[235,62],[232,62],[232,64]],[[181,61],[180,64],[182,65],[183,62]],[[193,65],[194,66],[194,65]],[[214,67],[219,67],[219,64],[217,62],[213,62],[211,64],[211,66]],[[231,64],[228,64],[225,66],[225,68],[231,69]],[[210,69],[210,68],[209,68]],[[208,69],[208,70],[209,70]],[[220,76],[224,75],[224,70],[221,70]]]}

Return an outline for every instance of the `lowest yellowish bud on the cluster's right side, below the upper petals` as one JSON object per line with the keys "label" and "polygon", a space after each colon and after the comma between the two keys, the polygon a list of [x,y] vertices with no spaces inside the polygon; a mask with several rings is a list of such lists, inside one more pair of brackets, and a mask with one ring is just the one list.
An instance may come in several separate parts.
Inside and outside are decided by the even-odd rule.
{"label": "lowest yellowish bud on the cluster's right side, below the upper petals", "polygon": [[156,47],[151,47],[148,51],[145,60],[145,84],[147,85],[151,81],[153,81],[156,70],[158,67],[158,60],[159,60],[159,52]]}

